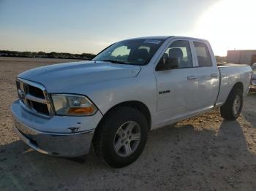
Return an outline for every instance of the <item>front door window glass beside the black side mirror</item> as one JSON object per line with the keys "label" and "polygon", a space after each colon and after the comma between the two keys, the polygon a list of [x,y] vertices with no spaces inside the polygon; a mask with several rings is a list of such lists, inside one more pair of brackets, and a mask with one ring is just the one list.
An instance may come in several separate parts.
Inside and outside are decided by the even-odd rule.
{"label": "front door window glass beside the black side mirror", "polygon": [[192,56],[188,41],[177,40],[170,44],[164,57],[178,58],[178,69],[192,68]]}

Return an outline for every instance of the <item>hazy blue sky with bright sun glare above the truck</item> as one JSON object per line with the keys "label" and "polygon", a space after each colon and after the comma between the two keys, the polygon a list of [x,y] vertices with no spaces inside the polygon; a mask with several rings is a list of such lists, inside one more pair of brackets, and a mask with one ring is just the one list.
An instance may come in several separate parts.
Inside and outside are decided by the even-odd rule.
{"label": "hazy blue sky with bright sun glare above the truck", "polygon": [[256,0],[0,0],[0,50],[97,53],[139,36],[256,50]]}

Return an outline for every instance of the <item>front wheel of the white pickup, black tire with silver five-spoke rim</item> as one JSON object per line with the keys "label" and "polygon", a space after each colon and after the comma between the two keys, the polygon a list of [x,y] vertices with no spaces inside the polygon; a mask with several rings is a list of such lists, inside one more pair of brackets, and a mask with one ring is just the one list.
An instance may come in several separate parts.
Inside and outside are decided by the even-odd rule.
{"label": "front wheel of the white pickup, black tire with silver five-spoke rim", "polygon": [[147,137],[145,116],[137,109],[120,106],[107,114],[97,127],[93,139],[94,151],[110,166],[121,168],[140,157]]}

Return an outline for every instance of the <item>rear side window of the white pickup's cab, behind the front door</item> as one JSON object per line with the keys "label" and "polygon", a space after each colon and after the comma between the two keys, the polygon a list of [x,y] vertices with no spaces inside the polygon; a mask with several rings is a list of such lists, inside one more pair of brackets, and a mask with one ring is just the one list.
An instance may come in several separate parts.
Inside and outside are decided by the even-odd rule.
{"label": "rear side window of the white pickup's cab, behind the front door", "polygon": [[208,47],[203,42],[194,42],[197,61],[200,67],[212,66],[211,55]]}

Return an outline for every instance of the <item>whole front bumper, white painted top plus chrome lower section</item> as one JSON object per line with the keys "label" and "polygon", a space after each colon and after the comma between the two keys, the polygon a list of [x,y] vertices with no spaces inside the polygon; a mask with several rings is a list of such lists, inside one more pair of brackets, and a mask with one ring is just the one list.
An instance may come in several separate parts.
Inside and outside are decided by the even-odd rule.
{"label": "whole front bumper, white painted top plus chrome lower section", "polygon": [[[80,117],[79,125],[83,125],[83,130],[71,132],[68,128],[78,125],[77,122],[72,122],[74,117],[57,117],[57,119],[51,117],[50,119],[43,119],[24,110],[18,101],[12,104],[12,115],[15,122],[15,131],[21,140],[42,154],[56,157],[78,157],[86,155],[91,147],[97,121],[101,118],[100,115],[99,117],[97,115],[91,116],[96,117],[97,120],[91,120],[91,117]],[[52,128],[52,130],[49,129],[49,125],[53,125],[53,122],[50,122],[50,120],[53,120],[56,125],[56,128]],[[63,121],[66,123],[63,123]],[[87,129],[84,128],[84,125],[86,125]],[[57,129],[60,132],[56,132]],[[67,130],[70,133],[67,133]]]}

